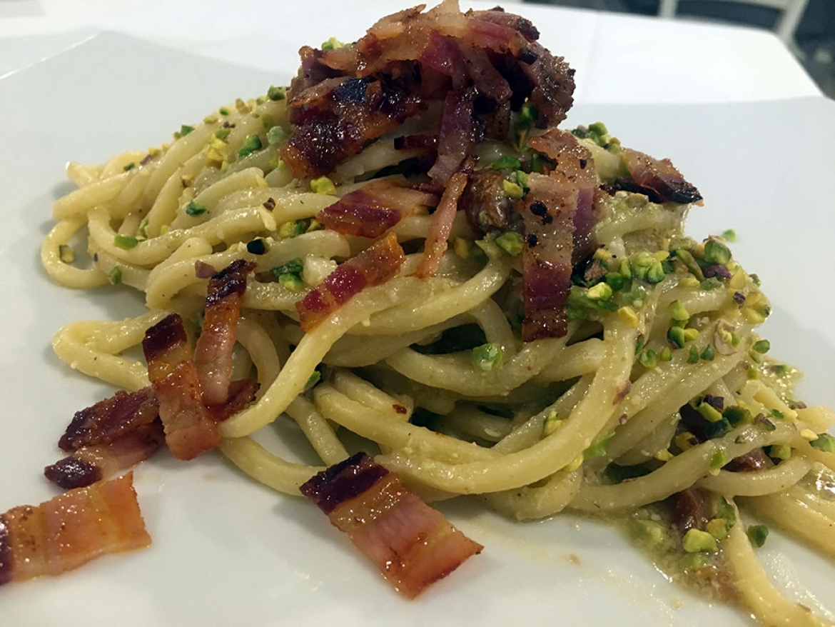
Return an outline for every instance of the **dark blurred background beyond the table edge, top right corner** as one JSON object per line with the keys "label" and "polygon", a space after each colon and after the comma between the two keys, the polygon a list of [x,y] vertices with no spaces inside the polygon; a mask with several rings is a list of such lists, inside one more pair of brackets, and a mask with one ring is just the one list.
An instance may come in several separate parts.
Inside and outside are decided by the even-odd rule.
{"label": "dark blurred background beyond the table edge, top right corner", "polygon": [[770,29],[792,50],[822,91],[835,98],[835,0],[525,1]]}

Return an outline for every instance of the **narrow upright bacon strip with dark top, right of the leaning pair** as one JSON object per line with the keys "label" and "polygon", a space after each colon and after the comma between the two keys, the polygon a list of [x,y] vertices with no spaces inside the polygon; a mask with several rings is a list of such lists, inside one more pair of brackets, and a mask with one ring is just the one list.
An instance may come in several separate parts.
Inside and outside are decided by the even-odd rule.
{"label": "narrow upright bacon strip with dark top, right of the leaning pair", "polygon": [[246,276],[254,269],[254,263],[237,259],[209,280],[203,329],[194,357],[206,405],[225,403],[229,398],[240,303],[246,291]]}

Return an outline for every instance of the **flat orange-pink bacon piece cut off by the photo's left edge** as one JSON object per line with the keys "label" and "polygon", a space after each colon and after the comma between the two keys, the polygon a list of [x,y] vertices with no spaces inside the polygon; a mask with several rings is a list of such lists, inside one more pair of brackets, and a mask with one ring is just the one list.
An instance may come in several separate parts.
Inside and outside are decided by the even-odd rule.
{"label": "flat orange-pink bacon piece cut off by the photo's left edge", "polygon": [[65,573],[150,541],[129,473],[0,514],[0,584]]}

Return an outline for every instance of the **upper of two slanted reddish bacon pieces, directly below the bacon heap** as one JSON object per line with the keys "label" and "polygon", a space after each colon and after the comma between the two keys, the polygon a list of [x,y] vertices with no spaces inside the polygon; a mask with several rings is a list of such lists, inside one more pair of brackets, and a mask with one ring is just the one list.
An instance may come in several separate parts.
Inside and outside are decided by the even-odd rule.
{"label": "upper of two slanted reddish bacon pieces, directly below the bacon heap", "polygon": [[438,204],[438,196],[392,183],[372,181],[342,196],[316,220],[343,235],[380,237],[403,217]]}

